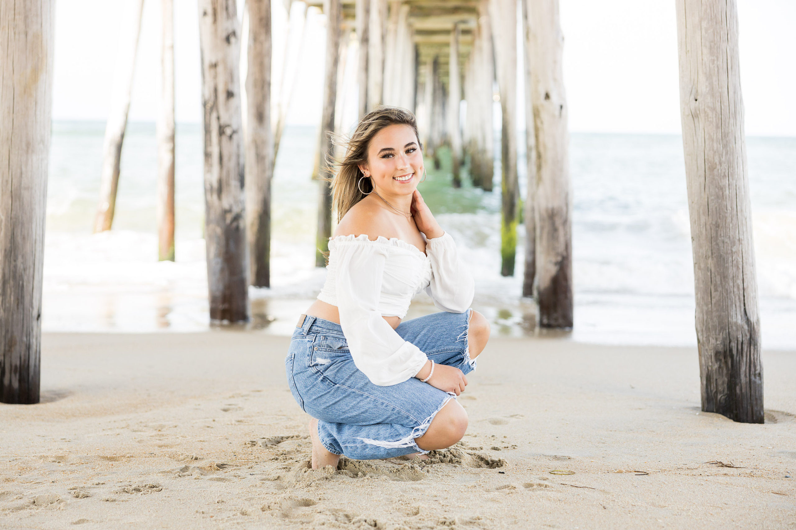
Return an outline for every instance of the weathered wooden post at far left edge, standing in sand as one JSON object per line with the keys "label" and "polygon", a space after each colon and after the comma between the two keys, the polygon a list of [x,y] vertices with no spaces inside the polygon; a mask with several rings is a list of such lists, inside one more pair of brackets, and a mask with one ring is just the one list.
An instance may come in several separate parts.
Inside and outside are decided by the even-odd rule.
{"label": "weathered wooden post at far left edge, standing in sand", "polygon": [[39,402],[53,0],[0,0],[0,401]]}

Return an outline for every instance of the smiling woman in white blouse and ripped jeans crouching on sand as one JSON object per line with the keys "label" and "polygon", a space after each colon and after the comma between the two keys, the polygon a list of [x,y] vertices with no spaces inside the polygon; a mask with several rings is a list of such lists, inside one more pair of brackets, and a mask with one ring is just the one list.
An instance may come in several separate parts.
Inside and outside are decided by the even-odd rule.
{"label": "smiling woman in white blouse and ripped jeans crouching on sand", "polygon": [[[489,338],[470,308],[473,277],[417,191],[414,115],[373,110],[345,146],[331,180],[338,226],[326,284],[285,360],[291,392],[313,416],[314,468],[343,454],[422,458],[458,442],[467,415],[455,397]],[[402,323],[423,289],[443,311]]]}

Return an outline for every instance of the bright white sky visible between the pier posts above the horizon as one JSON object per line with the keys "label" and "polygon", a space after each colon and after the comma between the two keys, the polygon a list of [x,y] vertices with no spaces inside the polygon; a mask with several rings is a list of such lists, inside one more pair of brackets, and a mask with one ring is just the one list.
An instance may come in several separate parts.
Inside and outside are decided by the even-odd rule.
{"label": "bright white sky visible between the pier posts above the horizon", "polygon": [[[104,120],[129,0],[56,2],[53,117]],[[242,2],[240,2],[242,3]],[[275,40],[286,17],[275,4]],[[738,0],[747,134],[796,136],[796,2]],[[560,0],[570,129],[680,133],[677,28],[672,0]],[[196,0],[174,0],[178,122],[201,121]],[[146,0],[130,119],[155,119],[160,2]],[[282,18],[280,18],[282,17]],[[288,122],[320,121],[324,17],[310,10]],[[276,44],[275,44],[276,45]],[[521,94],[521,92],[520,92]],[[521,103],[521,101],[520,101]],[[521,109],[520,109],[521,110]],[[524,115],[524,114],[520,114]]]}

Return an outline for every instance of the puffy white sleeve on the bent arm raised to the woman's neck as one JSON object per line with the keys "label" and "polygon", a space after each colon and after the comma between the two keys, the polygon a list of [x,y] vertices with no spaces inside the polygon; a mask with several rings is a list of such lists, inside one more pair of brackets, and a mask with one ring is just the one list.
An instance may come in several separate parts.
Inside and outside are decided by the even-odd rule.
{"label": "puffy white sleeve on the bent arm raised to the woman's neck", "polygon": [[431,260],[433,277],[426,288],[434,305],[449,313],[463,313],[470,308],[475,294],[475,281],[458,259],[456,242],[447,232],[439,238],[426,240],[426,253]]}

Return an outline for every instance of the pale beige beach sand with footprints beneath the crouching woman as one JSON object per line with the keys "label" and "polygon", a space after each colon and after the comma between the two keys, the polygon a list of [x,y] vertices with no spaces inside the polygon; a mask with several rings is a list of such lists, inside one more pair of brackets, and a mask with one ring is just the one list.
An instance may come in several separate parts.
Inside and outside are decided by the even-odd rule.
{"label": "pale beige beach sand with footprints beneath the crouching woman", "polygon": [[700,412],[694,349],[493,339],[454,450],[313,471],[288,341],[45,335],[42,403],[0,405],[0,527],[796,528],[794,352],[751,425]]}

